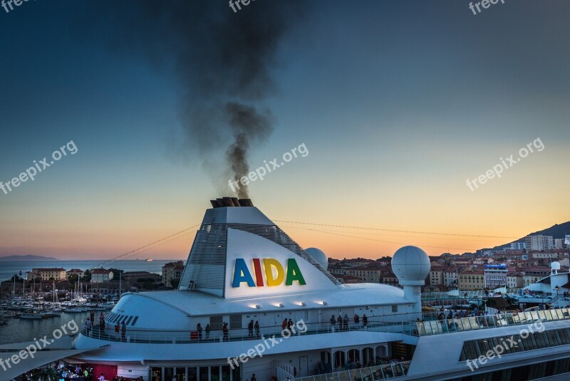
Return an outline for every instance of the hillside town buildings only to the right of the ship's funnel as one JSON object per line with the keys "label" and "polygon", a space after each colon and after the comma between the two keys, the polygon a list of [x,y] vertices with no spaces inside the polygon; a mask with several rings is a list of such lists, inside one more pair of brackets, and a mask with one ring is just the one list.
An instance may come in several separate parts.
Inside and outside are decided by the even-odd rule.
{"label": "hillside town buildings only to the right of the ship's funnel", "polygon": [[[343,283],[384,283],[398,286],[390,267],[391,258],[329,259],[328,270]],[[570,267],[570,235],[527,236],[524,242],[499,250],[430,256],[431,270],[425,278],[423,292],[475,291],[494,288],[524,288],[548,276],[551,262]]]}

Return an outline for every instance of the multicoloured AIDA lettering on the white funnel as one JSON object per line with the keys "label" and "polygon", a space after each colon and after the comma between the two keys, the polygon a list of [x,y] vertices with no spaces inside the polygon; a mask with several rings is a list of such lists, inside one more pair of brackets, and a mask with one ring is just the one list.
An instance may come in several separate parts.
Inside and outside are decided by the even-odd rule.
{"label": "multicoloured AIDA lettering on the white funnel", "polygon": [[239,287],[244,282],[247,283],[249,287],[280,286],[283,284],[283,281],[285,281],[285,286],[291,286],[294,281],[299,282],[301,286],[306,285],[305,278],[303,278],[301,269],[299,269],[299,265],[294,258],[287,259],[286,270],[281,266],[279,261],[273,258],[263,259],[264,271],[261,270],[261,261],[259,258],[254,258],[252,264],[255,282],[252,277],[252,272],[249,271],[245,260],[243,258],[236,259],[232,287]]}

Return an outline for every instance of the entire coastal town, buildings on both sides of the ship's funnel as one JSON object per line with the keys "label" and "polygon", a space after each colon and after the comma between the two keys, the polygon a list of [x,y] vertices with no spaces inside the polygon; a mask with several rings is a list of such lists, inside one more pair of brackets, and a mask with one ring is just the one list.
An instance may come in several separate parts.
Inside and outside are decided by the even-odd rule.
{"label": "entire coastal town, buildings on both sides of the ship's funnel", "polygon": [[[328,270],[341,283],[383,283],[399,286],[390,266],[391,257],[380,259],[328,259]],[[534,235],[524,242],[497,250],[475,253],[430,256],[431,269],[425,279],[423,293],[450,290],[476,291],[494,288],[519,289],[548,276],[552,262],[560,263],[560,271],[570,268],[570,234],[564,239]],[[162,266],[162,274],[148,271],[122,271],[116,268],[33,268],[25,275],[2,282],[3,295],[33,292],[41,287],[51,290],[52,283],[60,291],[80,290],[101,295],[126,291],[176,289],[184,271],[184,261]]]}

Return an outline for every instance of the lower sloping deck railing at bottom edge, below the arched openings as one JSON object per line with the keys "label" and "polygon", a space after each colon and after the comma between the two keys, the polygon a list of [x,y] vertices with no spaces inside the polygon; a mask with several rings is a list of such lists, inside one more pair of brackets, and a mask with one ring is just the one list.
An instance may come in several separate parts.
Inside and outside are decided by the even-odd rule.
{"label": "lower sloping deck railing at bottom edge, below the arched openings", "polygon": [[[393,362],[373,367],[361,367],[323,375],[297,377],[291,381],[376,381],[405,377],[408,375],[410,361]],[[283,380],[280,380],[283,381]]]}

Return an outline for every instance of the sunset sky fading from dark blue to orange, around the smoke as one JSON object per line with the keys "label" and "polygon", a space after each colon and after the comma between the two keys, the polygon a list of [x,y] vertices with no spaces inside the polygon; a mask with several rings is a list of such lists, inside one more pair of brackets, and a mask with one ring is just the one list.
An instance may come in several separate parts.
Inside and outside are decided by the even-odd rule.
{"label": "sunset sky fading from dark blue to orange, around the smoke", "polygon": [[[0,181],[70,140],[78,147],[0,192],[0,256],[112,258],[199,224],[209,199],[231,195],[228,178],[212,180],[180,141],[176,75],[93,38],[102,25],[110,36],[123,29],[102,21],[112,8],[103,15],[92,5],[0,8]],[[570,3],[507,0],[476,16],[468,5],[307,4],[279,45],[278,90],[264,102],[276,128],[249,162],[259,167],[302,143],[309,155],[254,182],[254,204],[284,221],[479,236],[568,221]],[[240,17],[227,1],[219,12]],[[467,187],[537,138],[544,150]],[[513,240],[279,225],[336,258]],[[137,256],[186,259],[190,233]]]}

